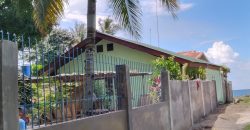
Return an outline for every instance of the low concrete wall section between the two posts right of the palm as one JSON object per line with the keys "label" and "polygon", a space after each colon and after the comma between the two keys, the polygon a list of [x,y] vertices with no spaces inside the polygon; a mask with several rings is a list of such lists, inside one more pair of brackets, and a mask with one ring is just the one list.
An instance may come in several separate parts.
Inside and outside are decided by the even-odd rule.
{"label": "low concrete wall section between the two posts right of the palm", "polygon": [[133,109],[133,130],[168,130],[167,111],[165,102]]}

